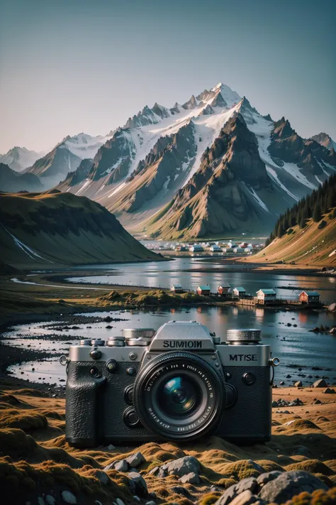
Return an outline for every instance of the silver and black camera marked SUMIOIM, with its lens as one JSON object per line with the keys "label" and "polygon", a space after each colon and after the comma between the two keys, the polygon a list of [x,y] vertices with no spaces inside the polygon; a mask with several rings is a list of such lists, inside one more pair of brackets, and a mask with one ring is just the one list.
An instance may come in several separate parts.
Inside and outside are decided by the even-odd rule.
{"label": "silver and black camera marked SUMIOIM, with its lens", "polygon": [[198,322],[169,321],[122,336],[82,340],[67,364],[69,444],[184,441],[217,435],[265,442],[271,435],[274,366],[259,330],[226,342]]}

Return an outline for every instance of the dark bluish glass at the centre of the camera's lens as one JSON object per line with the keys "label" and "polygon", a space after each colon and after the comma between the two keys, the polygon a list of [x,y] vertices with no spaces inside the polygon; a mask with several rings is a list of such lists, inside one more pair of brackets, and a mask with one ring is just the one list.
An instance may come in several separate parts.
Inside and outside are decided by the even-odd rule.
{"label": "dark bluish glass at the centre of the camera's lens", "polygon": [[157,389],[157,403],[167,416],[181,418],[190,416],[201,403],[201,388],[197,382],[184,374],[162,381]]}

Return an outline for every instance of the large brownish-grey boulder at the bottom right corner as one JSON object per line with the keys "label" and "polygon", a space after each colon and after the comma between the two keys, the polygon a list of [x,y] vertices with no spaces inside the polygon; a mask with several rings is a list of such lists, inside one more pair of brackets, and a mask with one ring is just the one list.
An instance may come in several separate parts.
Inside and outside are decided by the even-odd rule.
{"label": "large brownish-grey boulder at the bottom right corner", "polygon": [[327,490],[328,488],[318,477],[303,472],[303,470],[293,470],[292,472],[281,473],[276,479],[267,482],[262,487],[259,496],[267,503],[282,504],[296,496],[296,494],[303,491],[312,493],[315,489]]}

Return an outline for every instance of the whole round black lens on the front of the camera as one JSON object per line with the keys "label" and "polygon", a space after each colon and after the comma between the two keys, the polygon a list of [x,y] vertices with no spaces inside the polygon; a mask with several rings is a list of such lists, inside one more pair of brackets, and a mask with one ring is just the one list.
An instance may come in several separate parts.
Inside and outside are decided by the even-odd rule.
{"label": "whole round black lens on the front of the camera", "polygon": [[223,415],[223,378],[197,354],[161,354],[141,369],[135,410],[145,427],[167,440],[190,440],[214,430]]}

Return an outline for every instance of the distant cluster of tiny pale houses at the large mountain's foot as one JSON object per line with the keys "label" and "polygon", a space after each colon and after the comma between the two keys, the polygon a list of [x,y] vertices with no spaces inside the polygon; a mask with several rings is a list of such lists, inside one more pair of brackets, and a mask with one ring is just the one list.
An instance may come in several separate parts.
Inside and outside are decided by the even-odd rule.
{"label": "distant cluster of tiny pale houses at the large mountain's foot", "polygon": [[209,241],[195,244],[185,244],[181,242],[166,242],[165,244],[148,243],[146,244],[146,247],[152,251],[176,251],[179,253],[190,252],[210,254],[217,253],[225,254],[227,256],[248,256],[250,254],[257,253],[257,251],[260,251],[264,247],[264,244],[253,244],[252,242],[245,241],[235,243],[234,241],[229,240],[228,242]]}

